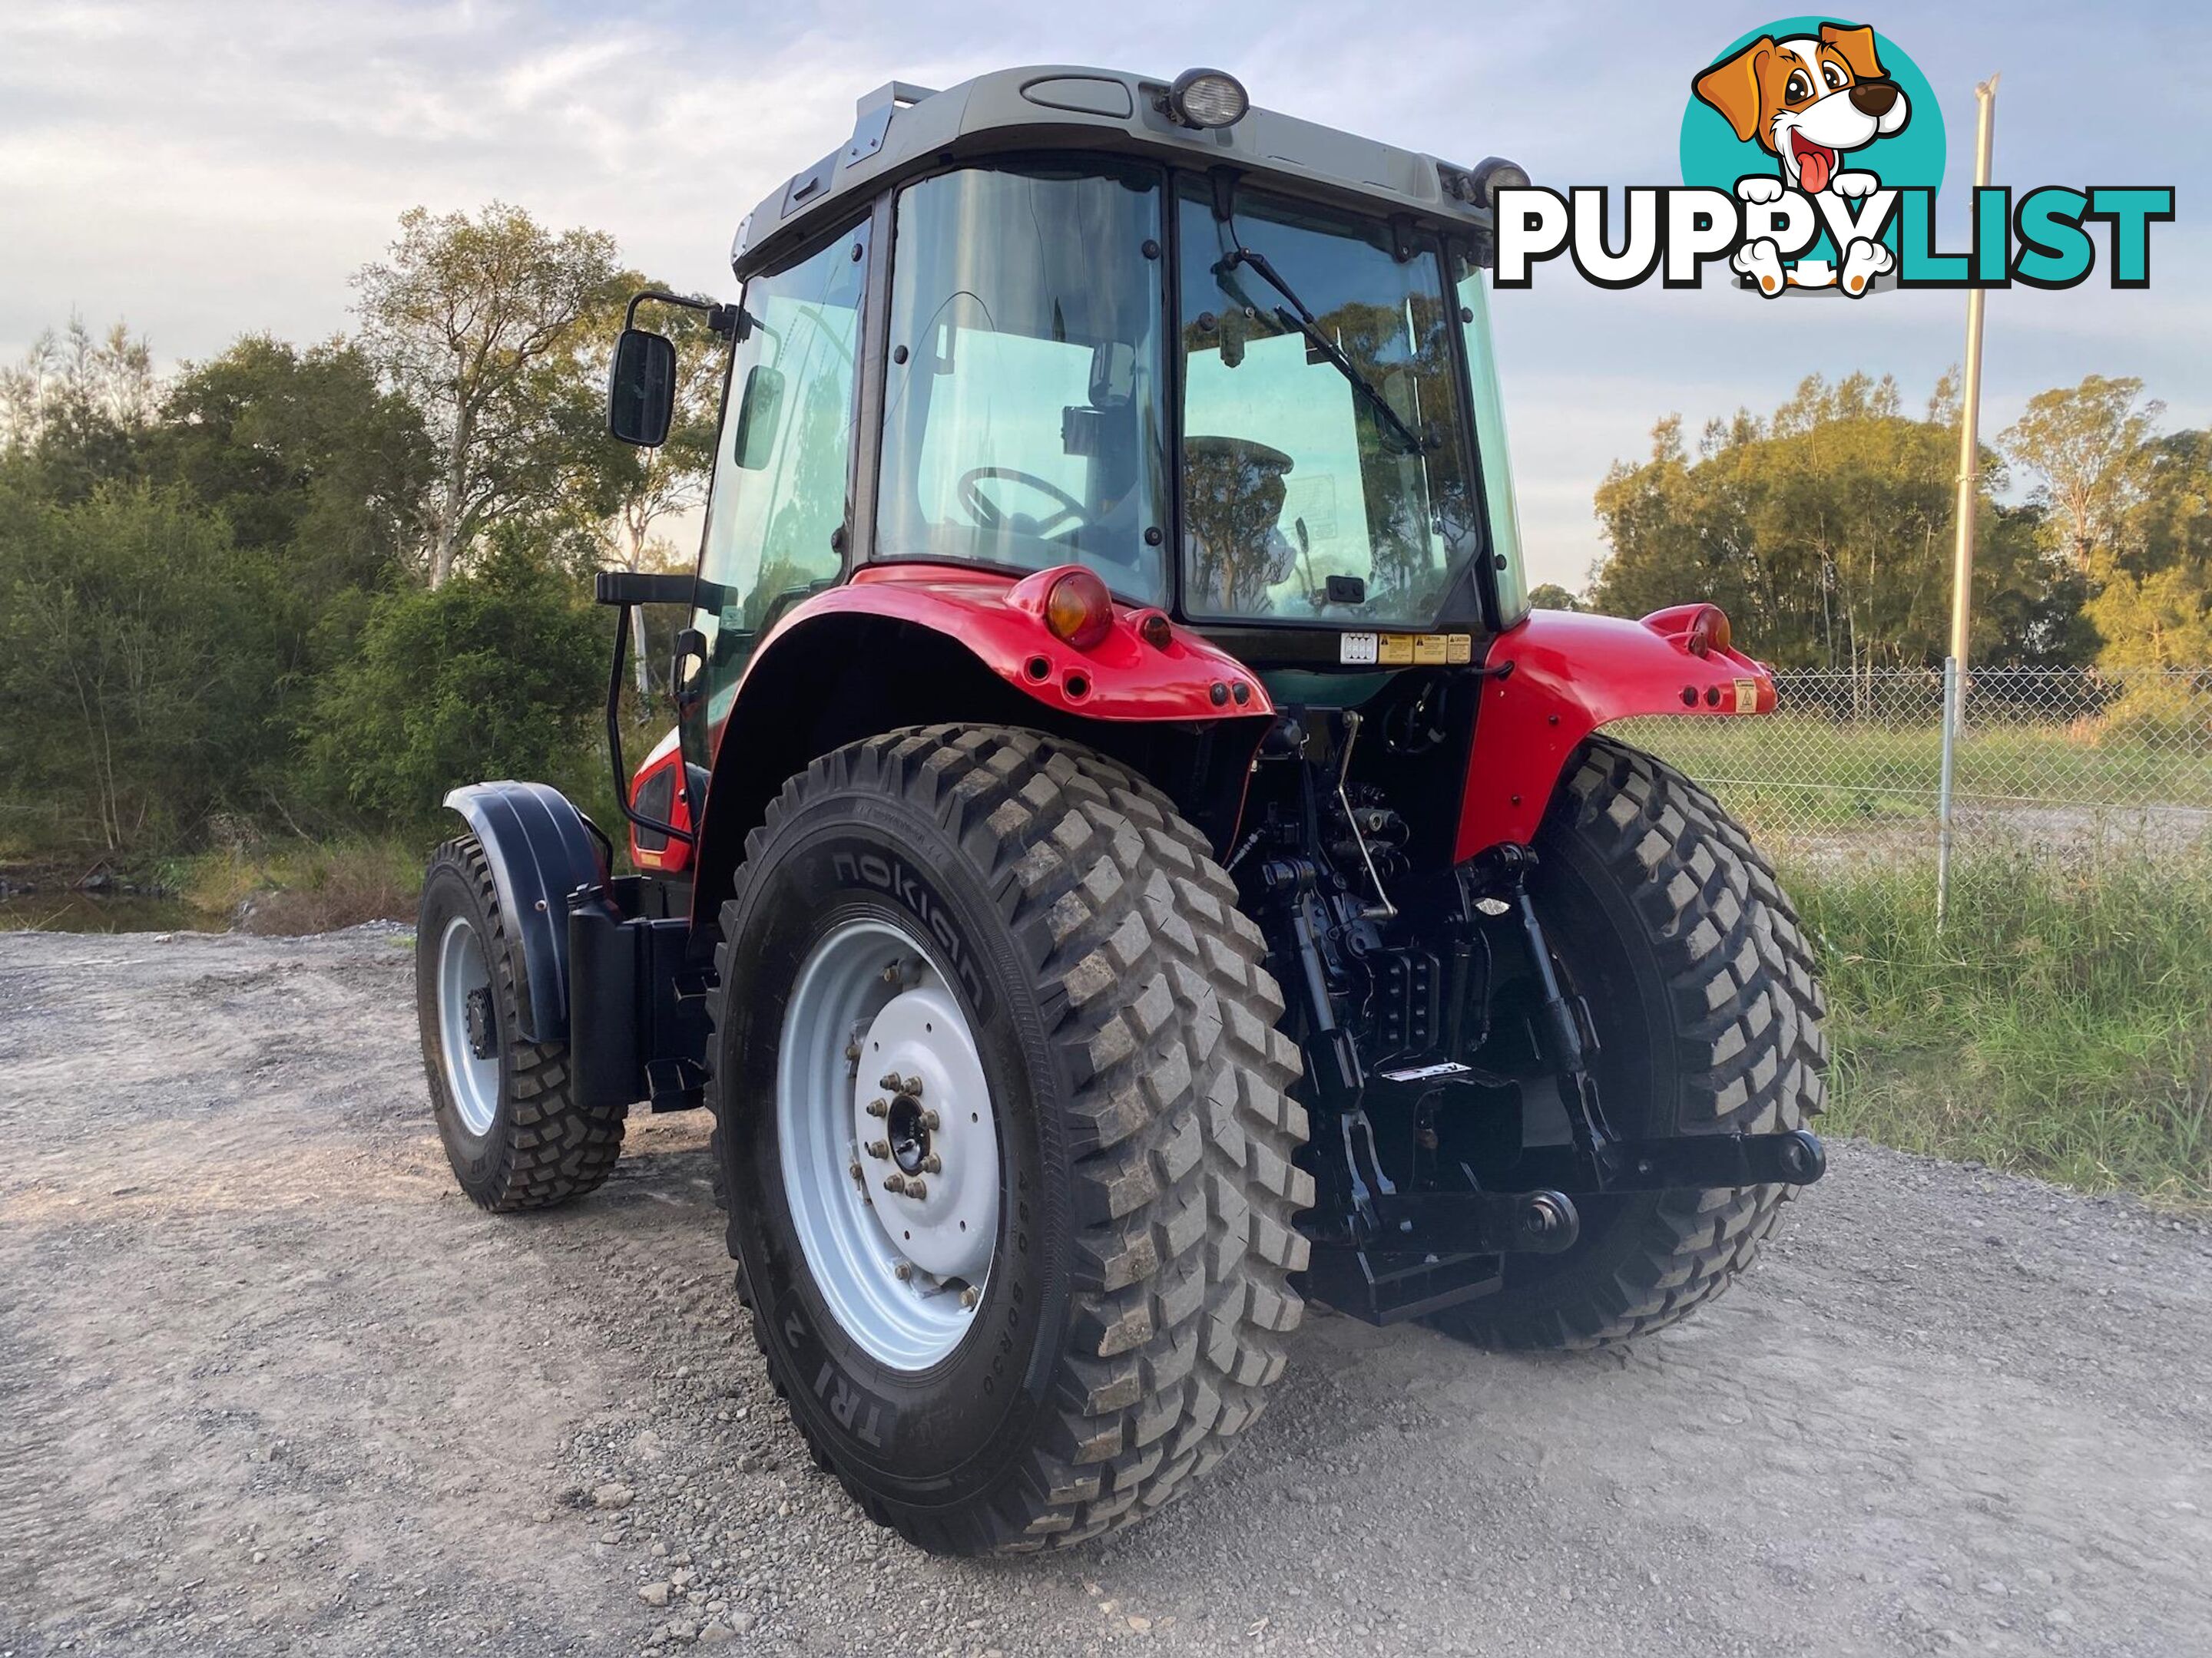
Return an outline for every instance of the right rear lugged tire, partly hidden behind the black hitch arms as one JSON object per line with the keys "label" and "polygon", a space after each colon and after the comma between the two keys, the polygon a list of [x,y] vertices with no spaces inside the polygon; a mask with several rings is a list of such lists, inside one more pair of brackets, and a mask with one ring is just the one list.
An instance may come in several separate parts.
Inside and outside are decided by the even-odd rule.
{"label": "right rear lugged tire, partly hidden behind the black hitch arms", "polygon": [[[1615,1132],[1765,1134],[1820,1112],[1827,999],[1812,948],[1774,869],[1710,794],[1590,738],[1535,844],[1531,895],[1590,1008],[1601,1043],[1590,1070]],[[1663,1329],[1752,1265],[1792,1194],[1584,1198],[1575,1249],[1506,1256],[1504,1289],[1429,1322],[1504,1349]]]}

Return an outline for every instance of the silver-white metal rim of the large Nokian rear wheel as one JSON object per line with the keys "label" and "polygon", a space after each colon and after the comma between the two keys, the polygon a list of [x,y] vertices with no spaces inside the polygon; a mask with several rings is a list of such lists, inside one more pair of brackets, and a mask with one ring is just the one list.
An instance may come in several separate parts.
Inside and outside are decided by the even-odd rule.
{"label": "silver-white metal rim of the large Nokian rear wheel", "polygon": [[998,1249],[998,1121],[960,999],[905,928],[845,922],[799,968],[776,1141],[838,1326],[896,1371],[960,1346]]}

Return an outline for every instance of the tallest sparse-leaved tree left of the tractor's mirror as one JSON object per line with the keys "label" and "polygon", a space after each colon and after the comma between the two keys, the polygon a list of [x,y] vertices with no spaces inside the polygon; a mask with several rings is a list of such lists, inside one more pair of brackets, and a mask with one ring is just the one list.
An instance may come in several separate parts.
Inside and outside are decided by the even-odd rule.
{"label": "tallest sparse-leaved tree left of the tractor's mirror", "polygon": [[595,464],[575,389],[597,374],[586,336],[619,285],[615,241],[553,234],[504,201],[476,219],[411,208],[354,285],[363,349],[436,444],[425,568],[440,586],[495,517],[573,508],[564,489]]}

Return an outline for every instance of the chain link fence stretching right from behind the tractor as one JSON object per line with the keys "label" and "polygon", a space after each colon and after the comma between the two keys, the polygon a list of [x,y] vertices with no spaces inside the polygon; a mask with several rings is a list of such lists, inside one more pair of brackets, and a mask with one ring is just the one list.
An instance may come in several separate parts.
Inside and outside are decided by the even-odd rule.
{"label": "chain link fence stretching right from behind the tractor", "polygon": [[[1942,672],[1781,672],[1765,718],[1637,718],[1617,736],[1710,787],[1781,858],[1933,856]],[[1966,674],[1958,844],[2212,860],[2212,668]]]}

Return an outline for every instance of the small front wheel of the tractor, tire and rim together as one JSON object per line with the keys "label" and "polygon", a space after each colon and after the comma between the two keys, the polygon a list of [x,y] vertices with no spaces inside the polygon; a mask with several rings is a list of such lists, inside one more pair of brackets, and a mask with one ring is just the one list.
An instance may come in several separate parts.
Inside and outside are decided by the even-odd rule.
{"label": "small front wheel of the tractor, tire and rim together", "polygon": [[431,853],[416,924],[416,1015],[438,1138],[480,1209],[546,1209],[597,1189],[622,1156],[624,1105],[586,1110],[568,1046],[522,1041],[500,891],[476,836]]}

